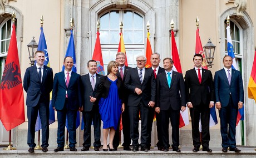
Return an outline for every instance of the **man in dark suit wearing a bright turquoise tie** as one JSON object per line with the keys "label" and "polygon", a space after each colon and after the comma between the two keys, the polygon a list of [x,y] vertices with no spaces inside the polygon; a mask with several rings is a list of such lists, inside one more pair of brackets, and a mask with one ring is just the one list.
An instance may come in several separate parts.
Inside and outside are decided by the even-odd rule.
{"label": "man in dark suit wearing a bright turquoise tie", "polygon": [[180,152],[180,110],[186,109],[186,93],[183,75],[173,71],[173,59],[165,58],[165,72],[156,78],[156,108],[161,119],[161,134],[164,151],[169,151],[169,120],[172,127],[173,151]]}

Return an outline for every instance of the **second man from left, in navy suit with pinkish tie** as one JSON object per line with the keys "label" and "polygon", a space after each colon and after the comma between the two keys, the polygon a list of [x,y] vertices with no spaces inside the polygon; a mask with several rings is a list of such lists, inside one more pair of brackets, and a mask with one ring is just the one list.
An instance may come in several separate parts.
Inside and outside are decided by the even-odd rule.
{"label": "second man from left, in navy suit with pinkish tie", "polygon": [[68,121],[68,140],[70,151],[77,151],[76,145],[76,116],[81,110],[81,77],[72,71],[72,57],[65,57],[63,65],[65,70],[55,74],[52,90],[52,106],[57,111],[58,118],[58,147],[55,152],[63,151],[65,145],[66,116]]}

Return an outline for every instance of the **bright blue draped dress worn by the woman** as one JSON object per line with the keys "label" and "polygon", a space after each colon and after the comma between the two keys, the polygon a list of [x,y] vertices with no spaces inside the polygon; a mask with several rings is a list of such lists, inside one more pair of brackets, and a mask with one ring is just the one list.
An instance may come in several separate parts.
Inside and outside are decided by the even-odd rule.
{"label": "bright blue draped dress worn by the woman", "polygon": [[115,81],[109,79],[109,81],[111,82],[109,95],[106,98],[101,98],[99,100],[99,111],[101,120],[103,121],[103,128],[107,129],[114,127],[116,130],[121,115],[122,101],[118,95],[116,85],[117,79]]}

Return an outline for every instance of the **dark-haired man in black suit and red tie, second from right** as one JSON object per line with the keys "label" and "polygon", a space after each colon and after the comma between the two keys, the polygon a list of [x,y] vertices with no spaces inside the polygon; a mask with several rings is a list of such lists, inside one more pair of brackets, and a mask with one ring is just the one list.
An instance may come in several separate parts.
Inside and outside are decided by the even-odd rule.
{"label": "dark-haired man in black suit and red tie, second from right", "polygon": [[[195,54],[193,57],[195,68],[186,71],[185,89],[186,102],[190,110],[192,123],[192,138],[194,152],[199,151],[202,144],[203,151],[211,152],[209,149],[210,132],[210,108],[214,106],[213,76],[210,70],[201,67],[203,57]],[[201,142],[199,132],[199,119],[201,119]]]}

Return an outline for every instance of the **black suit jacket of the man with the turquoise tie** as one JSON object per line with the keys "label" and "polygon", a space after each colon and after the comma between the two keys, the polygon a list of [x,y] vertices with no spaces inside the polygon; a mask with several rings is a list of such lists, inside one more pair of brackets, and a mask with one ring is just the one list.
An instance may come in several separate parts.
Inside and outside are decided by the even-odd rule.
{"label": "black suit jacket of the man with the turquoise tie", "polygon": [[156,107],[160,110],[180,110],[186,106],[186,93],[183,75],[173,71],[169,88],[165,72],[157,74],[156,78]]}

